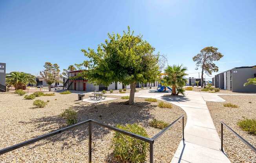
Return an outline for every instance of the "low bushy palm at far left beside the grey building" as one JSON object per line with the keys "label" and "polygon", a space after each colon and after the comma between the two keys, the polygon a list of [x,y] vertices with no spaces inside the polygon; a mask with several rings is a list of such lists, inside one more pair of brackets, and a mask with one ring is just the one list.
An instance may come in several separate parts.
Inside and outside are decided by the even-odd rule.
{"label": "low bushy palm at far left beside the grey building", "polygon": [[26,89],[27,84],[36,84],[36,77],[25,72],[11,72],[6,75],[7,85],[13,85],[15,89]]}

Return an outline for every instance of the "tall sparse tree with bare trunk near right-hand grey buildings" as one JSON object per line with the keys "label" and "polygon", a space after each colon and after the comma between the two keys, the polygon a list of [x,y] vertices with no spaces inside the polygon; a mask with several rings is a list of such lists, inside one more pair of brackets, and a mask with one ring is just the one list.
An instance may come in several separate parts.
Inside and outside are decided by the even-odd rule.
{"label": "tall sparse tree with bare trunk near right-hand grey buildings", "polygon": [[198,70],[199,67],[201,67],[201,87],[203,87],[203,73],[205,72],[207,75],[211,75],[212,72],[218,72],[219,67],[213,63],[214,61],[220,60],[223,55],[218,52],[217,47],[205,47],[203,48],[199,54],[194,56],[192,59],[194,62],[196,62],[196,70]]}

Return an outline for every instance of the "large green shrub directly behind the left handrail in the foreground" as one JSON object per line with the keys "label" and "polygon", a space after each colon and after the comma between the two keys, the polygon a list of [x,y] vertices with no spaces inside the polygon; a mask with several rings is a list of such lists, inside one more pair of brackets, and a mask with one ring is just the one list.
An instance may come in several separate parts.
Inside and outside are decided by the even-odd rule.
{"label": "large green shrub directly behind the left handrail in the foreground", "polygon": [[[146,130],[137,124],[117,125],[117,128],[148,137]],[[144,163],[148,154],[149,143],[115,132],[111,148],[117,162]]]}

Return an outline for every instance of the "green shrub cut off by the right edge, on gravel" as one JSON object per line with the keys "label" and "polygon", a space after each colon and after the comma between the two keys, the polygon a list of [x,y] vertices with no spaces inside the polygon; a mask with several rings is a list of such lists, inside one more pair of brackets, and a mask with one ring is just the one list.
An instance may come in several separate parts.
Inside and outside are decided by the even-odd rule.
{"label": "green shrub cut off by the right edge, on gravel", "polygon": [[254,134],[256,135],[256,119],[245,119],[238,122],[238,126],[244,130],[247,131],[248,134]]}

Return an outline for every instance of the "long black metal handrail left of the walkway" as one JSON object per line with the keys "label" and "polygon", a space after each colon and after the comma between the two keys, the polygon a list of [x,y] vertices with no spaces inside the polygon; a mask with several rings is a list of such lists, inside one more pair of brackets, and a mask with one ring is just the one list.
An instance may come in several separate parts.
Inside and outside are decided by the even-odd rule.
{"label": "long black metal handrail left of the walkway", "polygon": [[33,138],[33,139],[30,139],[30,140],[27,140],[27,141],[24,141],[22,143],[19,143],[19,144],[16,144],[16,145],[13,145],[11,147],[7,147],[5,149],[1,149],[0,150],[0,155],[2,154],[5,154],[7,152],[10,152],[12,150],[15,150],[15,149],[19,149],[21,147],[24,147],[26,145],[29,145],[29,144],[32,144],[32,143],[35,143],[37,141],[40,141],[42,139],[45,139],[45,138],[49,138],[53,135],[56,135],[56,134],[59,134],[61,132],[64,132],[66,130],[69,130],[69,129],[72,129],[72,128],[75,128],[75,127],[78,127],[80,125],[84,125],[86,123],[89,123],[89,127],[88,127],[88,130],[89,130],[89,150],[88,150],[88,159],[89,159],[89,163],[91,163],[91,134],[92,134],[92,124],[96,124],[96,125],[99,125],[99,126],[102,126],[102,127],[105,127],[107,129],[110,129],[110,130],[114,130],[116,132],[120,132],[122,134],[125,134],[125,135],[128,135],[128,136],[131,136],[133,138],[136,138],[136,139],[140,139],[142,141],[145,141],[145,142],[148,142],[150,143],[150,163],[154,163],[154,142],[160,137],[162,136],[168,129],[170,129],[175,123],[177,123],[177,121],[179,121],[180,119],[182,118],[182,131],[183,131],[183,140],[184,140],[184,114],[182,116],[180,116],[177,120],[175,120],[174,122],[172,122],[168,127],[166,127],[165,129],[163,129],[162,131],[160,131],[158,134],[156,134],[153,138],[146,138],[144,136],[140,136],[140,135],[137,135],[137,134],[134,134],[132,132],[128,132],[128,131],[125,131],[125,130],[121,130],[119,128],[116,128],[116,127],[112,127],[110,125],[105,125],[105,124],[102,124],[102,123],[99,123],[97,121],[94,121],[94,120],[86,120],[86,121],[82,121],[82,122],[79,122],[75,125],[71,125],[71,126],[68,126],[68,127],[65,127],[63,129],[59,129],[59,130],[56,130],[56,131],[53,131],[53,132],[50,132],[48,134],[44,134],[42,136],[38,136],[37,138]]}

